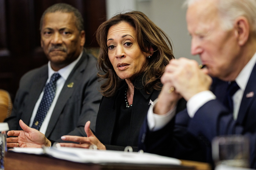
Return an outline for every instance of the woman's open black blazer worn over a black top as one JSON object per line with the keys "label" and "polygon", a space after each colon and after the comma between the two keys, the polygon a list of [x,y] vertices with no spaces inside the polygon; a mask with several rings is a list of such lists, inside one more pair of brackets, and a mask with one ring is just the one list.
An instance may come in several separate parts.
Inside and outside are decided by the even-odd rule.
{"label": "woman's open black blazer worn over a black top", "polygon": [[144,121],[145,116],[148,113],[150,107],[150,100],[154,101],[160,90],[154,90],[151,94],[147,94],[144,89],[134,88],[133,106],[131,113],[130,129],[128,132],[128,143],[124,143],[123,146],[112,145],[113,131],[116,124],[116,117],[119,114],[122,102],[124,103],[124,91],[127,84],[123,80],[121,87],[113,97],[102,97],[97,121],[96,121],[96,137],[105,144],[107,149],[110,150],[124,150],[126,146],[132,146],[133,151],[137,151],[138,136],[140,127]]}

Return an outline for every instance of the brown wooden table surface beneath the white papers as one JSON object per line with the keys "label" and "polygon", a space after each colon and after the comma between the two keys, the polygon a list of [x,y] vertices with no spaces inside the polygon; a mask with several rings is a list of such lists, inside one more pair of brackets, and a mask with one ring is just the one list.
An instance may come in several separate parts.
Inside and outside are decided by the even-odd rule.
{"label": "brown wooden table surface beneath the white papers", "polygon": [[182,165],[88,164],[66,161],[45,155],[7,151],[5,170],[211,170],[207,163],[181,160]]}

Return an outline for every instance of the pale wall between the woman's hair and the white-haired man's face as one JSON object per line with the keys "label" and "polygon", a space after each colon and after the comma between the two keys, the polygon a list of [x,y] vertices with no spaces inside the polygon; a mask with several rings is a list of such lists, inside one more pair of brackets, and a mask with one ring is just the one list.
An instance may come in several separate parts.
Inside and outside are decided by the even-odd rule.
{"label": "pale wall between the woman's hair and the white-haired man's face", "polygon": [[190,54],[191,38],[187,32],[183,2],[184,0],[106,0],[107,18],[116,12],[141,11],[171,38],[175,58],[187,57],[200,63],[198,56]]}

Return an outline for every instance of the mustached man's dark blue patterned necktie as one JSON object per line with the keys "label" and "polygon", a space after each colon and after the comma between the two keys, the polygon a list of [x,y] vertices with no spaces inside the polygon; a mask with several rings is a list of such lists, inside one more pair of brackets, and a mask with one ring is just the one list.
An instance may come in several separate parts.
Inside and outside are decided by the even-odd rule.
{"label": "mustached man's dark blue patterned necktie", "polygon": [[55,97],[55,92],[56,92],[56,82],[60,77],[61,76],[59,75],[59,73],[54,73],[51,77],[50,82],[45,85],[44,95],[38,107],[37,114],[32,124],[32,128],[35,128],[37,130],[40,129],[44,121],[44,118],[50,106],[52,105],[52,101]]}

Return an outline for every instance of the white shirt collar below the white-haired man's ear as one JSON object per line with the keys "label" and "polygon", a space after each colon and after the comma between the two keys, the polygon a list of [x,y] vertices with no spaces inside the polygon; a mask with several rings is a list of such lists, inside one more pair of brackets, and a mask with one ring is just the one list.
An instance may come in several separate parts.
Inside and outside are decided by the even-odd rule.
{"label": "white shirt collar below the white-haired man's ear", "polygon": [[256,63],[256,53],[253,55],[251,60],[244,66],[243,70],[236,77],[236,83],[241,90],[245,90],[249,77],[251,75],[252,69]]}

